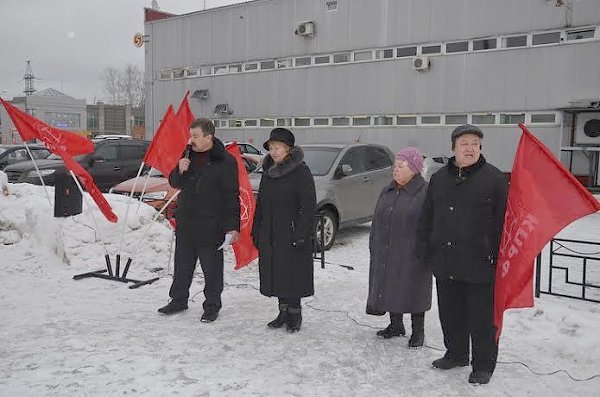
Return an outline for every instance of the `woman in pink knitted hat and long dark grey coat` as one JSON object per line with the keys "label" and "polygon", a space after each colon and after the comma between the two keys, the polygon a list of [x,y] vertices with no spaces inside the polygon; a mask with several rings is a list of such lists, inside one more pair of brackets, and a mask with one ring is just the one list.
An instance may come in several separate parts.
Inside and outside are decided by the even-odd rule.
{"label": "woman in pink knitted hat and long dark grey coat", "polygon": [[367,313],[390,313],[390,325],[377,332],[383,338],[404,335],[402,316],[411,313],[410,347],[423,346],[425,312],[431,308],[431,270],[417,257],[417,225],[427,193],[422,169],[417,149],[396,154],[394,180],[379,196],[369,236]]}

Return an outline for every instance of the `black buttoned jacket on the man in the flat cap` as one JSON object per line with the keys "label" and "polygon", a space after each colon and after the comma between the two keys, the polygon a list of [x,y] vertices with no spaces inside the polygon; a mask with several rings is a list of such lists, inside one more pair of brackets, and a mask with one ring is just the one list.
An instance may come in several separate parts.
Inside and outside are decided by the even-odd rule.
{"label": "black buttoned jacket on the man in the flat cap", "polygon": [[459,169],[454,157],[429,183],[419,222],[419,252],[438,279],[493,282],[508,184],[481,156]]}

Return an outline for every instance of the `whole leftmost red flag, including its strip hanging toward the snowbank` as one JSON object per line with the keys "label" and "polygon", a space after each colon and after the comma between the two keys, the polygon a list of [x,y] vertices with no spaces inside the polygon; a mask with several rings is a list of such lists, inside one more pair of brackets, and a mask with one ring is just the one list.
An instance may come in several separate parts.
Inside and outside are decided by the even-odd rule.
{"label": "whole leftmost red flag, including its strip hanging toward the snowbank", "polygon": [[112,211],[110,204],[106,201],[102,192],[100,192],[100,189],[98,189],[98,186],[94,183],[92,176],[71,157],[93,152],[94,144],[92,141],[81,135],[51,127],[1,98],[0,101],[2,101],[2,104],[6,108],[21,138],[24,141],[38,139],[48,150],[59,155],[63,159],[67,169],[73,171],[79,177],[81,184],[92,199],[94,199],[106,219],[110,222],[116,222],[117,216]]}

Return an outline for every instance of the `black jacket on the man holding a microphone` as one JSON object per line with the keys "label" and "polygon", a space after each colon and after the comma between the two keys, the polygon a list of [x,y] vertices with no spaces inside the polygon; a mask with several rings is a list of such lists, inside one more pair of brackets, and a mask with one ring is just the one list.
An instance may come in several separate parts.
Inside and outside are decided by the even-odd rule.
{"label": "black jacket on the man holding a microphone", "polygon": [[177,233],[193,236],[197,243],[220,245],[225,233],[240,230],[237,163],[216,138],[203,164],[198,161],[201,156],[190,151],[189,169],[181,174],[176,166],[169,174],[169,184],[181,189]]}

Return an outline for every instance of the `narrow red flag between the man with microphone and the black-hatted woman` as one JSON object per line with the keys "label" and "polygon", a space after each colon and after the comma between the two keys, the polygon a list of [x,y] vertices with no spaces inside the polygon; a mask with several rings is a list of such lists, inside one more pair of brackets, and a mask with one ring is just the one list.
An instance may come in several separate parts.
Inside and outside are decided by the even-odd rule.
{"label": "narrow red flag between the man with microphone and the black-hatted woman", "polygon": [[254,220],[254,210],[256,202],[252,193],[252,185],[248,178],[248,172],[242,160],[242,155],[237,143],[232,143],[227,146],[227,151],[231,154],[238,163],[238,181],[240,185],[240,238],[233,244],[233,252],[235,253],[235,269],[240,269],[258,258],[258,250],[252,243],[252,221]]}

